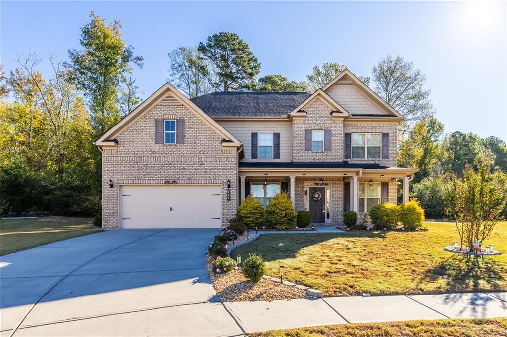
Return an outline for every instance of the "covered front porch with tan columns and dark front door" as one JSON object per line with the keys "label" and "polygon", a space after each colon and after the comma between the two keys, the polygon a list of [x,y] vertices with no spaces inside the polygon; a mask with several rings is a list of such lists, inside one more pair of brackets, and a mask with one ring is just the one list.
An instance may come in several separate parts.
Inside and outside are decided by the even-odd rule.
{"label": "covered front porch with tan columns and dark front door", "polygon": [[[307,167],[271,167],[269,163],[241,163],[239,202],[252,195],[266,207],[280,192],[286,192],[297,212],[308,210],[313,224],[343,224],[343,212],[354,210],[359,219],[375,204],[396,203],[397,184],[403,184],[403,200],[409,200],[409,184],[416,170],[400,167],[331,167],[306,164]],[[276,163],[280,164],[280,163]],[[290,165],[292,164],[292,165]],[[278,166],[277,165],[277,166]],[[342,166],[358,166],[343,164]],[[256,167],[257,166],[257,167]],[[292,167],[290,167],[292,166]]]}

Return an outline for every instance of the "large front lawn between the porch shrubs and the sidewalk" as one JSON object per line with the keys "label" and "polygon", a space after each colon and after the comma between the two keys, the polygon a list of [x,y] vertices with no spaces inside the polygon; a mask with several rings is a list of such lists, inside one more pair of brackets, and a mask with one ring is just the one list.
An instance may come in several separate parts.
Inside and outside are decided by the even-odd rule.
{"label": "large front lawn between the porch shrubs and the sidewalk", "polygon": [[285,279],[324,296],[507,290],[507,222],[484,242],[503,254],[484,258],[443,250],[459,240],[454,224],[425,226],[427,232],[268,234],[231,256],[256,252],[267,260],[268,275],[278,276],[284,265]]}

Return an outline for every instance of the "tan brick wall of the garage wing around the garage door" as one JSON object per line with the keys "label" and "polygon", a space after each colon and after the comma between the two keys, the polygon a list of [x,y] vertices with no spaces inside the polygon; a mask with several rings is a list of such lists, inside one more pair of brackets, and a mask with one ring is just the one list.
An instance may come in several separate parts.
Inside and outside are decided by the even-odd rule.
{"label": "tan brick wall of the garage wing around the garage door", "polygon": [[[164,100],[168,101],[168,100]],[[185,119],[185,143],[155,143],[155,120]],[[223,137],[198,115],[180,103],[158,103],[116,136],[117,149],[102,154],[103,225],[119,227],[119,185],[160,185],[166,180],[178,184],[222,185],[222,224],[236,214],[237,153],[222,148]],[[114,182],[110,188],[109,180]],[[227,200],[227,180],[231,200]]]}

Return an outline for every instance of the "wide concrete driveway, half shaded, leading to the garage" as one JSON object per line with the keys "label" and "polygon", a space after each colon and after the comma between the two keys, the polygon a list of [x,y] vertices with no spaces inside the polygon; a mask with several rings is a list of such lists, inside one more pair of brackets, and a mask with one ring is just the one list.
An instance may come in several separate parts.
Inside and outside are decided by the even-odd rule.
{"label": "wide concrete driveway, half shaded, leading to the garage", "polygon": [[115,230],[4,256],[1,334],[241,334],[206,270],[217,233]]}

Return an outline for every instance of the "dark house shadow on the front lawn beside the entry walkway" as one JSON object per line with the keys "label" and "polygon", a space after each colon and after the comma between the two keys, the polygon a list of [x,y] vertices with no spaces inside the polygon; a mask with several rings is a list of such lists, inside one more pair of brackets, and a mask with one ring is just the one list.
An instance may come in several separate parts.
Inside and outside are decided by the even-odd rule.
{"label": "dark house shadow on the front lawn beside the entry walkway", "polygon": [[[275,261],[283,259],[292,259],[296,257],[296,252],[299,250],[321,244],[321,249],[326,249],[329,245],[330,249],[350,249],[350,245],[343,243],[343,247],[339,245],[341,242],[326,242],[333,239],[340,238],[378,238],[384,239],[384,232],[364,232],[354,231],[348,233],[295,233],[295,234],[266,234],[261,235],[257,240],[247,243],[243,246],[235,248],[231,251],[231,257],[235,258],[236,255],[241,255],[243,260],[248,257],[249,253],[256,253],[261,255],[266,261]],[[282,245],[280,245],[282,243]]]}

